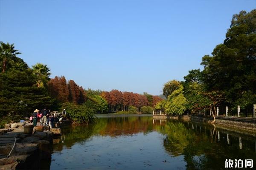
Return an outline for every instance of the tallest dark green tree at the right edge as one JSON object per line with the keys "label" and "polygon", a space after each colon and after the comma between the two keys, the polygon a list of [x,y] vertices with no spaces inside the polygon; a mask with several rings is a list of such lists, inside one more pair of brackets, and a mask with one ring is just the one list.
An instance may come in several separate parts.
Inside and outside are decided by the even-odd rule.
{"label": "tallest dark green tree at the right edge", "polygon": [[[221,94],[224,100],[220,103],[227,106],[235,107],[236,101],[248,91],[256,93],[255,20],[255,9],[234,14],[224,42],[214,48],[212,56],[202,58],[207,91]],[[218,101],[219,95],[215,97]]]}

